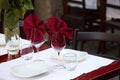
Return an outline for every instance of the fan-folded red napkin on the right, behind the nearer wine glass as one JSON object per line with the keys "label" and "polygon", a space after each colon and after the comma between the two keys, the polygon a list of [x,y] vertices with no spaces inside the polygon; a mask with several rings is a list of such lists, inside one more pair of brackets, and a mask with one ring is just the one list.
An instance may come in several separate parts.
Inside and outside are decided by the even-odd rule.
{"label": "fan-folded red napkin on the right, behind the nearer wine glass", "polygon": [[47,22],[48,34],[51,37],[52,32],[60,32],[65,35],[67,40],[73,38],[73,30],[58,17],[50,17]]}

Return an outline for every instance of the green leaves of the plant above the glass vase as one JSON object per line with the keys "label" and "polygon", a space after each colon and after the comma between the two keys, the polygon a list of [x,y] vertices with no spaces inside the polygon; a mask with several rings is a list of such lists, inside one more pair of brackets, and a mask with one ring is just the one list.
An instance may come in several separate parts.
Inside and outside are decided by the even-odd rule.
{"label": "green leaves of the plant above the glass vase", "polygon": [[9,29],[13,29],[26,11],[32,9],[31,0],[0,0],[0,13],[4,10],[4,22]]}

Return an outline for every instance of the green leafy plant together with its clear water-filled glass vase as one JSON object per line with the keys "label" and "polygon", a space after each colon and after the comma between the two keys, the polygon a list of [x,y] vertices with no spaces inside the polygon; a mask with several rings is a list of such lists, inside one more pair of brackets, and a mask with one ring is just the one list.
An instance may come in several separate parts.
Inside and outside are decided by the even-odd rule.
{"label": "green leafy plant together with its clear water-filled glass vase", "polygon": [[19,19],[23,19],[25,13],[33,9],[31,0],[0,0],[0,13],[4,12],[4,33],[8,53],[18,53],[16,47],[19,46],[19,27],[17,27]]}

